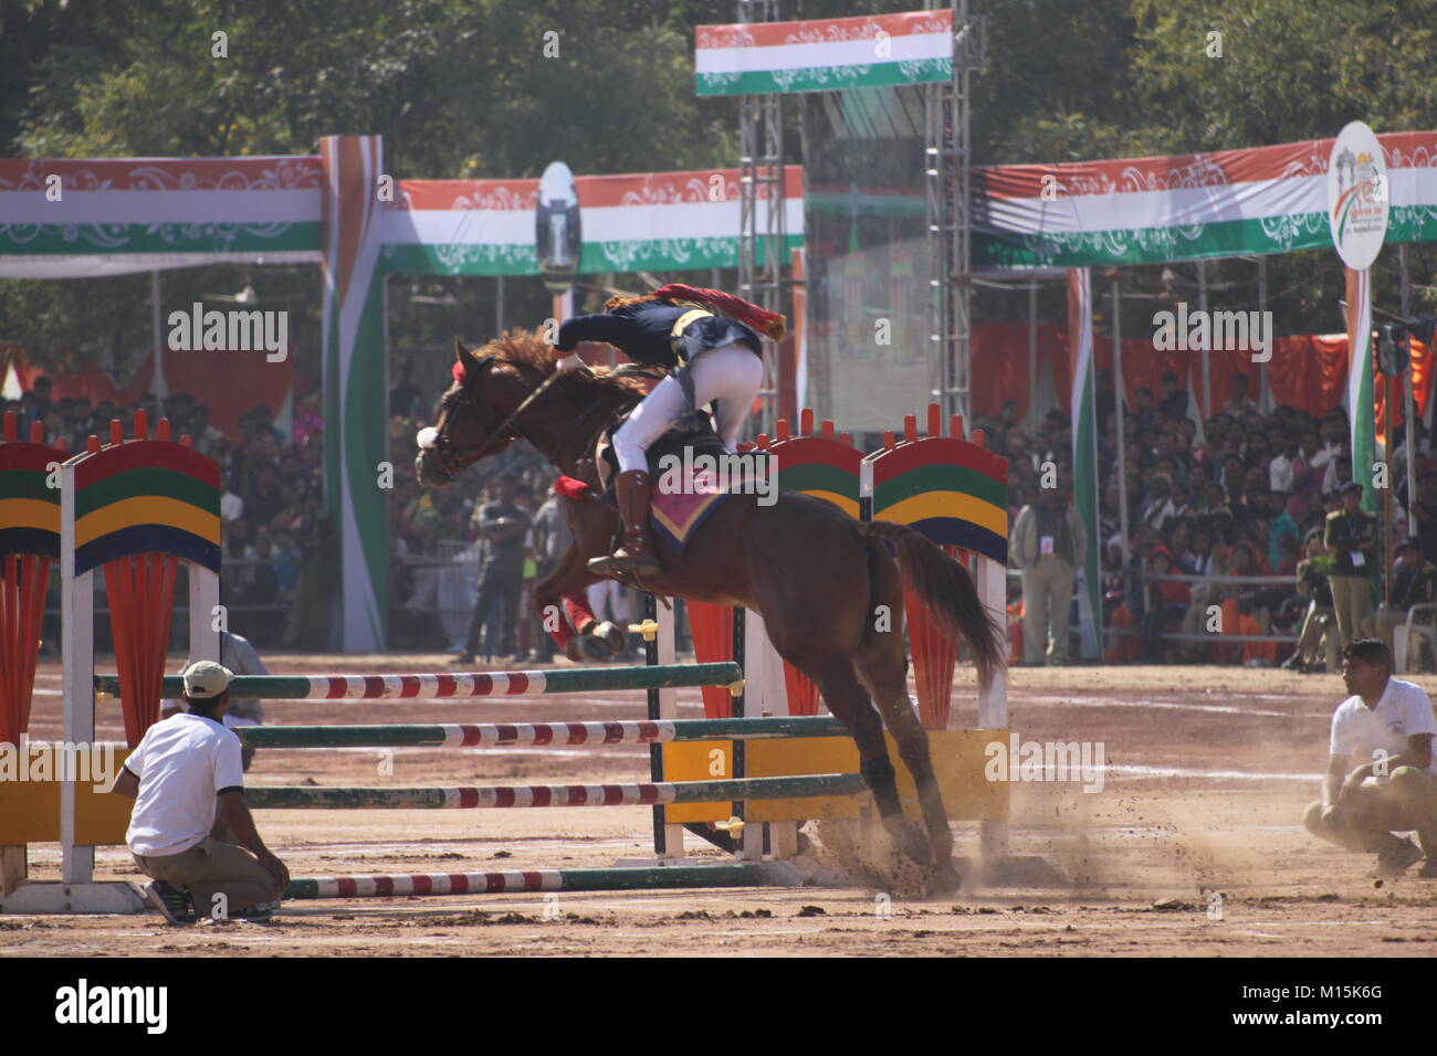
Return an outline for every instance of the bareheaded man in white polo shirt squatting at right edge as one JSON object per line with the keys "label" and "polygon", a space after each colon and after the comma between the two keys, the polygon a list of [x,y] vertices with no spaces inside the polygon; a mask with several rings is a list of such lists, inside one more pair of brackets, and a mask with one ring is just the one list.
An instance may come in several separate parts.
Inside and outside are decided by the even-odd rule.
{"label": "bareheaded man in white polo shirt squatting at right edge", "polygon": [[[1423,858],[1437,876],[1437,718],[1427,693],[1392,678],[1392,654],[1377,638],[1342,651],[1348,697],[1332,715],[1332,749],[1322,799],[1303,825],[1348,851],[1377,853],[1380,876],[1400,876]],[[1418,849],[1398,832],[1415,832]]]}

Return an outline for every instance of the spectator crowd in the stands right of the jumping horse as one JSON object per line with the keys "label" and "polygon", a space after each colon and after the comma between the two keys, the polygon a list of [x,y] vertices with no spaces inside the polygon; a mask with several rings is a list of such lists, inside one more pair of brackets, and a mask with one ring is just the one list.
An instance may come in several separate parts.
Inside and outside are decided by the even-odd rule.
{"label": "spectator crowd in the stands right of the jumping horse", "polygon": [[[1394,579],[1390,599],[1377,606],[1382,526],[1359,507],[1364,496],[1380,497],[1380,491],[1371,490],[1371,474],[1354,478],[1341,408],[1322,418],[1290,407],[1260,414],[1247,379],[1237,375],[1232,401],[1203,422],[1200,435],[1190,394],[1167,374],[1160,394],[1140,388],[1131,407],[1124,405],[1119,437],[1106,374],[1099,371],[1096,418],[1108,662],[1206,659],[1267,667],[1282,661],[1315,671],[1323,668],[1323,634],[1334,647],[1365,635],[1391,647],[1392,629],[1405,622],[1408,606],[1433,601],[1437,464],[1426,457],[1421,422],[1411,539],[1403,487],[1410,453],[1401,427],[1394,440],[1388,471]],[[1010,552],[1023,582],[1023,601],[1010,598],[1010,612],[1033,615],[1023,629],[1022,662],[1066,662],[1069,585],[1076,572],[1076,562],[1063,555],[1065,545],[1072,549],[1065,543],[1071,533],[1061,527],[1076,520],[1071,425],[1055,409],[1026,432],[1016,401],[976,425],[987,431],[989,447],[1009,460]],[[1045,491],[1050,493],[1046,499]],[[1119,517],[1124,491],[1127,536]],[[1069,513],[1048,513],[1045,520],[1046,507]],[[1173,575],[1196,579],[1164,579]],[[1298,641],[1255,641],[1260,638],[1293,638],[1300,647],[1295,648]],[[1335,655],[1335,648],[1322,651]]]}

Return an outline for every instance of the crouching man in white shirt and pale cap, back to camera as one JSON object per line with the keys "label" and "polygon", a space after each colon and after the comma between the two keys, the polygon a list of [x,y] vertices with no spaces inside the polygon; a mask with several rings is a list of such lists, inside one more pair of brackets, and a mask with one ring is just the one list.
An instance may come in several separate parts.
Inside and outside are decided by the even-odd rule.
{"label": "crouching man in white shirt and pale cap, back to camera", "polygon": [[115,780],[135,800],[125,842],[154,879],[145,897],[171,924],[267,920],[289,885],[244,806],[240,738],[224,727],[231,677],[207,659],[185,668],[190,710],[151,726]]}

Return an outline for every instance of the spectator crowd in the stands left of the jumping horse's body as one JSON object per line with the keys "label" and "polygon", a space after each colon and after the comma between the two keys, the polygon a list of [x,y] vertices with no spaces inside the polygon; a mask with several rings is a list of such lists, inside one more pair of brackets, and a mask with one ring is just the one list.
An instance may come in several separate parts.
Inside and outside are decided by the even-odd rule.
{"label": "spectator crowd in the stands left of the jumping horse's body", "polygon": [[[208,407],[184,394],[118,405],[52,398],[52,391],[50,379],[40,376],[20,399],[0,399],[0,411],[16,411],[26,437],[30,422],[42,422],[46,441],[63,438],[72,453],[91,435],[108,441],[116,418],[131,435],[139,409],[152,427],[164,417],[172,435],[188,434],[221,468],[220,586],[230,628],[262,649],[338,648],[331,588],[338,540],[323,501],[316,392],[296,401],[287,432],[267,407],[256,407],[240,415],[239,435],[230,437],[211,425]],[[388,418],[391,639],[395,648],[448,649],[466,662],[549,659],[553,644],[529,598],[569,542],[553,496],[558,473],[527,444],[516,444],[470,471],[463,484],[422,487],[414,477],[414,435],[431,424],[434,397],[415,388],[411,368],[401,365]],[[632,590],[614,583],[591,595],[601,618],[637,619]]]}

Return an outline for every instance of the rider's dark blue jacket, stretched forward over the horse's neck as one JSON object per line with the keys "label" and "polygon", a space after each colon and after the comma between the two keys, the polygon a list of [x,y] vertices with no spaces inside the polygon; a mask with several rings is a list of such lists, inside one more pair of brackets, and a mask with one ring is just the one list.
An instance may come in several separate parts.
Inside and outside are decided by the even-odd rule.
{"label": "rider's dark blue jacket, stretched forward over the horse's neck", "polygon": [[674,323],[694,310],[693,305],[641,300],[601,315],[575,316],[559,328],[556,348],[560,352],[572,352],[581,341],[602,341],[621,349],[637,363],[670,369],[688,362],[707,348],[734,342],[762,355],[763,345],[752,328],[713,313],[697,316],[675,338]]}

